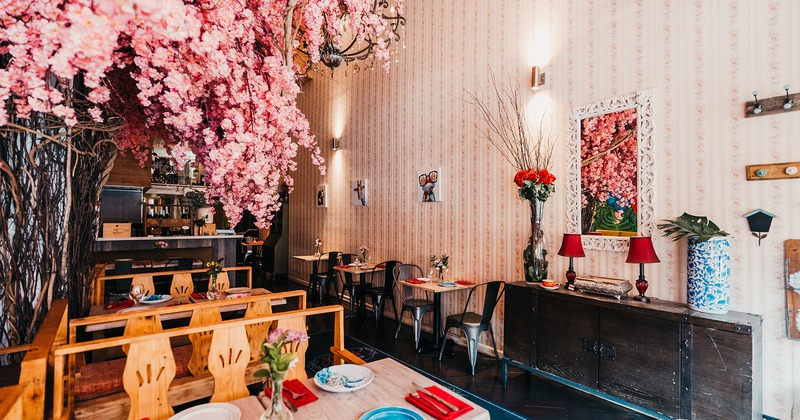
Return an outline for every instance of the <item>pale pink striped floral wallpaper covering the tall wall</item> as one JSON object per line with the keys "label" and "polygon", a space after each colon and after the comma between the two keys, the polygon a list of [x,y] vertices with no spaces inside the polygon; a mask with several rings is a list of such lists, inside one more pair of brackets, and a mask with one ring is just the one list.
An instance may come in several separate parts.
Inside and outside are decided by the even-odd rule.
{"label": "pale pink striped floral wallpaper covering the tall wall", "polygon": [[[558,139],[556,193],[545,209],[552,273],[566,230],[567,118],[573,107],[655,89],[656,219],[686,211],[707,215],[732,239],[732,309],[764,318],[764,413],[800,417],[800,344],[786,339],[783,241],[800,238],[800,181],[748,182],[748,164],[800,160],[800,113],[743,118],[750,92],[800,90],[800,2],[794,0],[406,0],[408,24],[386,74],[354,63],[320,71],[301,108],[327,160],[321,176],[299,156],[290,207],[290,253],[323,249],[399,259],[427,268],[431,254],[451,257],[451,276],[522,279],[528,206],[517,200],[513,168],[480,137],[466,91],[486,93],[491,74],[523,86],[530,121],[544,115]],[[545,88],[527,87],[543,66]],[[340,137],[342,148],[330,150]],[[419,174],[441,167],[442,202],[419,202]],[[369,206],[350,203],[350,182],[369,180]],[[317,208],[317,185],[329,206]],[[775,213],[757,246],[742,217]],[[654,238],[660,264],[646,268],[650,295],[685,301],[686,245]],[[576,271],[635,279],[623,253],[587,251]],[[292,260],[292,277],[310,266]],[[460,293],[460,292],[459,292]],[[463,309],[445,299],[445,312]],[[460,297],[460,298],[459,298]],[[502,345],[503,309],[494,319]],[[512,314],[508,314],[512,316]],[[569,320],[564,320],[569,325]],[[794,407],[797,408],[794,408]]]}

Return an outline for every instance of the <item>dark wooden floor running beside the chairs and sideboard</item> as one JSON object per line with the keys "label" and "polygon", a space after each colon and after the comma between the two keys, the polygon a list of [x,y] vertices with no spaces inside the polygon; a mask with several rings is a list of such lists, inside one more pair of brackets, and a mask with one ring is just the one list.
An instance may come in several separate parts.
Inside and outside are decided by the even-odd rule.
{"label": "dark wooden floor running beside the chairs and sideboard", "polygon": [[[273,291],[294,290],[304,286],[292,281],[277,281],[265,284]],[[331,296],[328,304],[338,303]],[[348,305],[345,304],[347,312]],[[399,309],[399,308],[398,308]],[[397,323],[384,317],[376,322],[372,313],[367,319],[350,319],[345,324],[345,333],[369,344],[410,365],[424,370],[441,380],[469,391],[481,398],[507,408],[531,419],[645,419],[645,415],[633,412],[614,403],[572,389],[558,382],[509,368],[508,386],[500,384],[500,368],[494,357],[479,354],[475,376],[469,374],[466,348],[454,346],[454,357],[438,361],[438,354],[418,355],[414,351],[414,336],[410,326],[403,325],[395,341]],[[428,315],[430,316],[430,315]],[[315,317],[309,323],[309,333],[333,329],[333,317]],[[424,334],[430,341],[430,334]]]}

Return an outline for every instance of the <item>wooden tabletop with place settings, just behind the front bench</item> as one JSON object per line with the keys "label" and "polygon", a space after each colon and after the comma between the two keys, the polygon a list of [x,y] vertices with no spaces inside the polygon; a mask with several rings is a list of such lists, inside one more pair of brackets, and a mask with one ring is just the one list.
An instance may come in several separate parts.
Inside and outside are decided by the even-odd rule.
{"label": "wooden tabletop with place settings, just behind the front bench", "polygon": [[[256,288],[256,289],[252,289],[250,291],[250,295],[251,296],[261,296],[261,295],[266,295],[266,294],[270,294],[270,293],[272,293],[272,292],[270,292],[267,289],[262,289],[262,288]],[[223,292],[222,293],[222,297],[220,299],[225,299],[226,296],[227,296],[227,293]],[[205,302],[205,301],[203,301],[203,302]],[[271,304],[272,304],[272,306],[285,305],[286,304],[286,299],[273,300],[271,302]],[[184,307],[186,307],[187,310],[186,311],[182,311],[182,312],[172,312],[172,313],[168,313],[168,314],[161,314],[159,317],[160,317],[160,319],[162,321],[166,321],[166,320],[170,320],[170,319],[188,318],[188,317],[192,316],[192,302],[189,300],[188,296],[174,296],[172,299],[170,299],[170,300],[168,300],[166,302],[156,303],[156,304],[152,304],[152,305],[150,305],[150,304],[140,304],[140,305],[137,305],[137,306],[132,306],[131,308],[143,308],[143,309],[134,310],[134,311],[152,311],[152,312],[158,313],[157,309],[171,308],[173,306],[184,306]],[[240,311],[240,310],[244,310],[246,308],[247,308],[247,303],[242,302],[241,304],[231,304],[231,305],[221,306],[220,307],[220,312]],[[126,309],[130,309],[130,308],[126,308]],[[91,308],[89,308],[89,315],[87,315],[84,318],[80,318],[80,320],[81,321],[85,321],[85,320],[88,320],[89,318],[92,318],[92,317],[102,317],[102,316],[106,316],[106,315],[117,314],[117,313],[120,313],[120,311],[123,311],[123,310],[125,310],[125,309],[118,309],[118,308],[106,309],[106,305],[94,305]],[[134,311],[125,311],[125,312],[134,312]],[[86,331],[92,332],[92,331],[107,330],[107,329],[111,329],[111,328],[120,328],[120,327],[124,327],[126,322],[127,321],[125,321],[125,320],[117,320],[117,321],[110,321],[110,322],[104,322],[104,323],[89,324],[89,325],[86,326]]]}

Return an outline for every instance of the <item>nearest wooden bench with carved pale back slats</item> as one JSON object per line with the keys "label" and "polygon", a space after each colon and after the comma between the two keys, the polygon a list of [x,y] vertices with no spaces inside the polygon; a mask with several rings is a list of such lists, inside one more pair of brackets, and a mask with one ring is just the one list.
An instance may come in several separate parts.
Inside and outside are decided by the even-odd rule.
{"label": "nearest wooden bench with carved pale back slats", "polygon": [[[161,330],[158,315],[151,311],[118,314],[125,316],[129,325],[136,324],[138,331],[123,337],[70,343],[55,350],[56,386],[54,387],[54,418],[141,418],[161,419],[172,415],[171,405],[179,405],[211,396],[212,401],[228,401],[249,395],[246,385],[260,382],[253,376],[261,363],[261,343],[273,328],[306,328],[306,317],[333,313],[335,316],[334,343],[331,351],[336,363],[349,361],[363,363],[344,349],[344,313],[339,305],[305,309],[304,291],[274,293],[275,299],[297,297],[301,308],[272,314],[270,306],[261,300],[258,307],[251,306],[245,318],[221,321],[215,316],[220,302],[161,308],[162,311],[194,307],[198,319],[187,327]],[[252,297],[255,298],[255,297]],[[235,299],[241,302],[245,299]],[[202,307],[201,307],[202,305]],[[97,317],[100,318],[100,317]],[[138,319],[137,319],[138,318]],[[195,317],[193,316],[193,320]],[[141,322],[140,322],[141,321]],[[142,327],[144,326],[144,327]],[[127,330],[127,327],[126,327]],[[176,371],[170,340],[188,337],[193,343],[191,376],[174,378]],[[125,392],[76,402],[74,386],[77,375],[76,356],[98,349],[129,346],[122,383]],[[298,350],[298,363],[287,374],[287,379],[305,379],[305,349]],[[195,357],[197,353],[197,357]],[[68,360],[67,360],[68,359]],[[192,365],[193,364],[193,365]],[[149,373],[148,373],[149,372]],[[66,407],[63,402],[66,401]]]}

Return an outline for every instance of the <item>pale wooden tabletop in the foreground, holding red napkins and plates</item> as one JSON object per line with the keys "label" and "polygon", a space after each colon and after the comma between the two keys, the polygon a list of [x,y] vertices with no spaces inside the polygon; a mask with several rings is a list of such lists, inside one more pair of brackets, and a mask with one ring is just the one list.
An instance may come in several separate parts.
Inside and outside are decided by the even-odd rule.
{"label": "pale wooden tabletop in the foreground, holding red napkins and plates", "polygon": [[[300,407],[296,413],[293,413],[294,418],[296,420],[355,420],[372,409],[390,406],[411,409],[420,413],[425,419],[433,418],[407,402],[405,397],[414,390],[411,385],[412,381],[423,387],[437,385],[436,383],[391,358],[370,362],[364,366],[372,370],[375,379],[366,387],[353,392],[327,392],[314,384],[313,377],[306,379],[305,386],[316,394],[319,400]],[[445,389],[441,385],[439,387]],[[459,416],[458,419],[490,419],[489,412],[483,407],[452,392],[451,394],[473,408],[468,413]]]}

